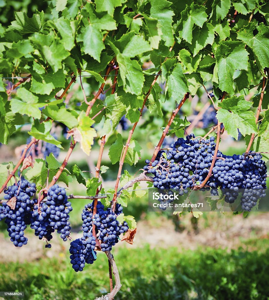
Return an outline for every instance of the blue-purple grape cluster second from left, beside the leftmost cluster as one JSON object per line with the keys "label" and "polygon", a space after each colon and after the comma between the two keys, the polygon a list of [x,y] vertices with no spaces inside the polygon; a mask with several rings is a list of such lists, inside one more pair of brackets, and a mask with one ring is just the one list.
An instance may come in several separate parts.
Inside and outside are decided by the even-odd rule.
{"label": "blue-purple grape cluster second from left, beside the leftmost cluster", "polygon": [[72,211],[71,202],[67,201],[66,191],[58,184],[49,188],[46,202],[34,206],[31,218],[31,228],[39,239],[52,239],[52,232],[57,230],[61,238],[67,241],[70,235],[69,213]]}

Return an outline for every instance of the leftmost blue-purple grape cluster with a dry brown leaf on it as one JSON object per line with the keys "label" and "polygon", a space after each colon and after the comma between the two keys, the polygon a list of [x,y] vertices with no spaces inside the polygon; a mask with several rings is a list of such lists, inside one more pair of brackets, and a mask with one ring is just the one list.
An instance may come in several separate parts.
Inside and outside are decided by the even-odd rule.
{"label": "leftmost blue-purple grape cluster with a dry brown leaf on it", "polygon": [[30,184],[25,179],[4,190],[6,194],[4,199],[13,198],[16,203],[14,209],[11,209],[9,202],[4,202],[3,206],[0,206],[0,220],[5,219],[8,235],[16,247],[27,244],[28,239],[24,236],[24,230],[29,224],[31,210],[37,202],[36,199],[31,199],[35,191],[35,184]]}

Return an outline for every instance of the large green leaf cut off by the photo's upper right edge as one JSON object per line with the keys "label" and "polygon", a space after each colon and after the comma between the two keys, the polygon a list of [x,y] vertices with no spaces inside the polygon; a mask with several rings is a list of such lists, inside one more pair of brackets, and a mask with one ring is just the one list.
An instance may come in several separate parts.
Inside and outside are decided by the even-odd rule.
{"label": "large green leaf cut off by the photo's upper right edge", "polygon": [[[253,30],[258,30],[254,36]],[[269,65],[269,27],[263,24],[255,26],[249,23],[237,34],[237,38],[246,43],[253,51],[260,72],[265,76],[264,68]]]}

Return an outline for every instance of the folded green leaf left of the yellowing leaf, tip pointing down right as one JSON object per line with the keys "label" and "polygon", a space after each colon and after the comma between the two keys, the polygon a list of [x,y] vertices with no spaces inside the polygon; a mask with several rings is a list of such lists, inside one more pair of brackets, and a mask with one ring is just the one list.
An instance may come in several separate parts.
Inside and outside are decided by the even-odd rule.
{"label": "folded green leaf left of the yellowing leaf, tip pointing down right", "polygon": [[34,120],[34,123],[31,127],[31,131],[28,131],[28,134],[35,137],[37,140],[43,140],[45,142],[56,145],[58,148],[63,149],[61,142],[55,140],[55,138],[50,134],[52,127],[52,121],[39,123],[38,120]]}

